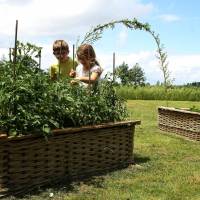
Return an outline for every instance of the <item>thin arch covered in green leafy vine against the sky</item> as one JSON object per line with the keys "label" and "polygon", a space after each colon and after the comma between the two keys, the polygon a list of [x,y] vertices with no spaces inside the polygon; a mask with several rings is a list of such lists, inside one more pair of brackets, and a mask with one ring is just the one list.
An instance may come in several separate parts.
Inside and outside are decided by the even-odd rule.
{"label": "thin arch covered in green leafy vine against the sky", "polygon": [[157,45],[157,51],[156,51],[156,58],[159,60],[160,69],[163,73],[164,78],[164,87],[167,90],[173,82],[173,79],[170,78],[170,72],[168,70],[168,61],[167,61],[167,52],[164,51],[164,45],[160,43],[159,34],[156,34],[153,30],[151,30],[150,25],[148,23],[141,23],[136,18],[129,20],[129,19],[122,19],[122,20],[116,20],[111,21],[106,24],[99,24],[96,27],[93,27],[89,32],[87,32],[84,36],[83,41],[80,44],[89,43],[93,44],[100,38],[102,38],[103,31],[105,29],[111,28],[114,29],[116,24],[123,24],[125,27],[131,29],[131,30],[143,30],[151,34],[153,39],[156,42]]}

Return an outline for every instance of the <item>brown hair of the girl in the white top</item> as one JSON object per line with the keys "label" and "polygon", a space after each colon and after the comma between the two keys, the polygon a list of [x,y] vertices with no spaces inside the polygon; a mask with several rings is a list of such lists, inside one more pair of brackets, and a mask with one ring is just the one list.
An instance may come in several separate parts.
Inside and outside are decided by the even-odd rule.
{"label": "brown hair of the girl in the white top", "polygon": [[76,54],[77,54],[78,58],[84,58],[84,59],[90,60],[91,66],[94,66],[94,65],[99,66],[99,63],[96,60],[96,54],[95,54],[95,51],[94,51],[92,45],[82,44],[77,49]]}

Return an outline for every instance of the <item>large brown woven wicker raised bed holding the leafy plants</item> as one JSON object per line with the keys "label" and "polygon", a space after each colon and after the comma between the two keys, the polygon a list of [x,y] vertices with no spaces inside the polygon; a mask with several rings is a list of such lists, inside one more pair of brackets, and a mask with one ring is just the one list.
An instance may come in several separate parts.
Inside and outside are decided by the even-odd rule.
{"label": "large brown woven wicker raised bed holding the leafy plants", "polygon": [[0,196],[127,166],[133,162],[137,124],[60,129],[48,141],[42,136],[0,137]]}

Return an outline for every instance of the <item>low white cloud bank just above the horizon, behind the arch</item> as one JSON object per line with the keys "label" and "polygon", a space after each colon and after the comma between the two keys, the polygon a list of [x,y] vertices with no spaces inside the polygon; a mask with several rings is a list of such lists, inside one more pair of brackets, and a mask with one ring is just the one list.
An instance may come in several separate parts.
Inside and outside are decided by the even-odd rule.
{"label": "low white cloud bank just above the horizon, behind the arch", "polygon": [[[99,53],[100,63],[104,68],[104,74],[112,72],[112,53]],[[171,78],[175,79],[174,84],[184,84],[200,81],[200,54],[196,55],[176,55],[169,56],[168,69],[171,72]],[[147,82],[155,84],[158,80],[163,81],[163,74],[159,67],[159,61],[155,57],[155,52],[141,51],[131,54],[116,54],[116,66],[125,62],[132,67],[139,63],[145,72]]]}

